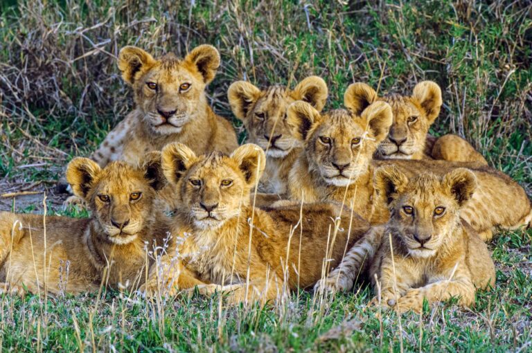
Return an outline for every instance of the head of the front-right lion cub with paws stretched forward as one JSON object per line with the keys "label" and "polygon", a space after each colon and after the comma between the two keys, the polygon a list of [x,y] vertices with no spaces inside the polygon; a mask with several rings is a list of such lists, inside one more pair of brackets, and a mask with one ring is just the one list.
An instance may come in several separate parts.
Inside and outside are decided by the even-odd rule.
{"label": "head of the front-right lion cub with paws stretched forward", "polygon": [[390,165],[375,171],[374,184],[391,210],[388,225],[401,244],[397,251],[432,257],[459,226],[460,209],[475,192],[477,178],[459,168],[443,177],[423,173],[409,180]]}

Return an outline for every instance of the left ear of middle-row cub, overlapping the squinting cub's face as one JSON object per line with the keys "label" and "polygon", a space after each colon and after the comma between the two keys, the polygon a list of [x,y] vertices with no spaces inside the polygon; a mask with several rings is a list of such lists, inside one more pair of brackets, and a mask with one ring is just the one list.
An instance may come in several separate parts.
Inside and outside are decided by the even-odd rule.
{"label": "left ear of middle-row cub, overlapping the squinting cub's face", "polygon": [[307,102],[293,102],[286,111],[287,124],[292,135],[300,141],[305,141],[312,127],[321,120],[319,111]]}

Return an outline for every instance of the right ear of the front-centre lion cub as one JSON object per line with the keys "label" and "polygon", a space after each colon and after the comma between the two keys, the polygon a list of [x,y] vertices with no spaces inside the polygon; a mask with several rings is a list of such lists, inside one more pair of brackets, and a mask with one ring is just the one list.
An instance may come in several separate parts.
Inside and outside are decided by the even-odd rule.
{"label": "right ear of the front-centre lion cub", "polygon": [[266,168],[266,154],[264,150],[253,143],[247,143],[238,147],[231,154],[238,164],[238,168],[244,173],[244,178],[249,186],[253,186],[263,175]]}

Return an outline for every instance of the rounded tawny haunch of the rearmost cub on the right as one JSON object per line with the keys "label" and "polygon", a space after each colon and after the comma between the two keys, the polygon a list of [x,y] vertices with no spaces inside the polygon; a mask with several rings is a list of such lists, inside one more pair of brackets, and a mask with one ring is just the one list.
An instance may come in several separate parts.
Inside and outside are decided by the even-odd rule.
{"label": "rounded tawny haunch of the rearmost cub on the right", "polygon": [[460,136],[447,134],[438,138],[432,147],[432,158],[452,162],[488,162],[475,148]]}

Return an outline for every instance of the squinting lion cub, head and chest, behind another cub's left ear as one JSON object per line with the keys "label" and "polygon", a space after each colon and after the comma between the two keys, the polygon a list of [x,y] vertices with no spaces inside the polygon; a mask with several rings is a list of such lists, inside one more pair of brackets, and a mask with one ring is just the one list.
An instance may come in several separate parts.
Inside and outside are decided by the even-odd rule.
{"label": "squinting lion cub, head and chest, behind another cub's left ear", "polygon": [[293,90],[281,86],[258,89],[246,81],[233,82],[227,91],[233,114],[242,120],[248,142],[266,152],[266,169],[259,190],[283,195],[287,192],[288,173],[301,152],[299,141],[287,125],[287,107],[296,100],[310,103],[321,111],[328,96],[322,78],[305,78]]}

